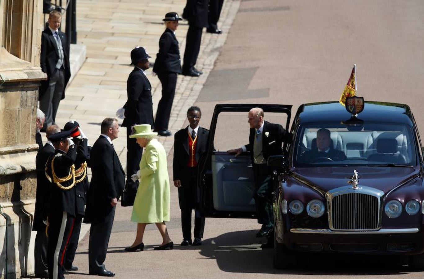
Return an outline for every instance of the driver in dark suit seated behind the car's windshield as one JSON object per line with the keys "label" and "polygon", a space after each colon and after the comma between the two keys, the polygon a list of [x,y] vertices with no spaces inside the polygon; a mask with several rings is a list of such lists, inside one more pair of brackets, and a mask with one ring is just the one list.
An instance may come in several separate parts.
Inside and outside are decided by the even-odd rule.
{"label": "driver in dark suit seated behind the car's windshield", "polygon": [[346,160],[346,155],[343,151],[334,149],[331,140],[331,133],[327,129],[317,131],[316,149],[312,146],[312,150],[304,152],[301,155],[301,160],[307,163],[318,163],[325,161],[342,161]]}

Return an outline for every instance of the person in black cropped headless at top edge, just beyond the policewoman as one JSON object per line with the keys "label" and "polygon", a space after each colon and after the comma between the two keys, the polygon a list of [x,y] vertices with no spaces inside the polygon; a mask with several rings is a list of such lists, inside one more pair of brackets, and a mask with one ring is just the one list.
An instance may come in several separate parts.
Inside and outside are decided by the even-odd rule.
{"label": "person in black cropped headless at top edge, just beyond the policewoman", "polygon": [[188,20],[189,28],[186,36],[186,49],[184,51],[184,63],[182,74],[198,77],[203,72],[194,66],[200,51],[202,30],[208,27],[208,0],[187,0],[183,12],[183,18]]}

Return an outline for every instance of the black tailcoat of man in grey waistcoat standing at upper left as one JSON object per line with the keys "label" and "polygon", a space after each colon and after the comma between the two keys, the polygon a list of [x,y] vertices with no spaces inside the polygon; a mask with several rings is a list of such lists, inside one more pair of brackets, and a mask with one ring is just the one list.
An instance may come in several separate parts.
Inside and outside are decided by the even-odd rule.
{"label": "black tailcoat of man in grey waistcoat standing at upper left", "polygon": [[[69,66],[69,46],[67,44],[67,39],[65,33],[58,31],[60,40],[62,42],[63,54],[64,54],[64,77],[65,83],[64,88],[71,77],[71,71]],[[53,36],[50,28],[46,28],[41,33],[41,51],[40,51],[40,67],[43,72],[47,74],[47,80],[42,81],[41,88],[39,91],[38,99],[41,99],[42,94],[45,93],[48,85],[49,79],[53,76],[56,71],[56,64],[59,61],[59,50],[57,49],[57,40]],[[63,91],[62,99],[65,98],[65,91]]]}

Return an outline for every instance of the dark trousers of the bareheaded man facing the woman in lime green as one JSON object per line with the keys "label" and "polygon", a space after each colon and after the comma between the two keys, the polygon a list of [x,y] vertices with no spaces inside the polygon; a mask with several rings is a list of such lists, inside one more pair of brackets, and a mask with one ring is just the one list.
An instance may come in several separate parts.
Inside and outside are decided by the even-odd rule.
{"label": "dark trousers of the bareheaded man facing the woman in lime green", "polygon": [[88,244],[88,269],[90,272],[96,273],[106,269],[103,262],[106,260],[114,217],[115,207],[112,208],[105,219],[91,224]]}

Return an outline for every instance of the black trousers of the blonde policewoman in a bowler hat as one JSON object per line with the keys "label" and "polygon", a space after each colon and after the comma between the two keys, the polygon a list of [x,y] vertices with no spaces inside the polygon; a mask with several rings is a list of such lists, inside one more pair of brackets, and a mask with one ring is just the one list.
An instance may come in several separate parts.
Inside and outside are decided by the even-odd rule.
{"label": "black trousers of the blonde policewoman in a bowler hat", "polygon": [[162,98],[159,101],[156,112],[155,130],[164,131],[168,129],[172,102],[174,101],[175,88],[177,86],[177,74],[167,72],[159,74],[158,77],[162,83]]}

